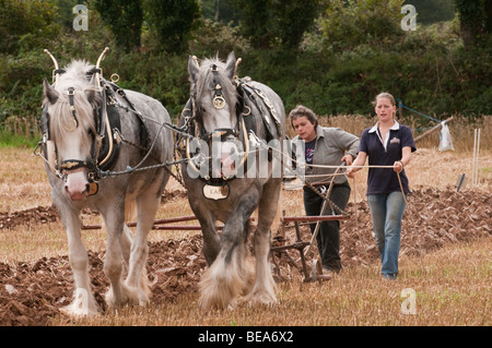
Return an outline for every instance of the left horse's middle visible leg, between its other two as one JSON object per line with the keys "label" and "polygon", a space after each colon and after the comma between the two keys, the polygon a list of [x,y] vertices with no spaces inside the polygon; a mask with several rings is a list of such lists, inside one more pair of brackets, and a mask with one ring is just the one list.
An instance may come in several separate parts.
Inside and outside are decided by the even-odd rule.
{"label": "left horse's middle visible leg, between its other two", "polygon": [[102,212],[107,227],[106,257],[104,260],[104,273],[109,278],[110,287],[106,292],[106,302],[110,308],[117,308],[127,303],[132,303],[138,298],[134,290],[122,283],[122,253],[121,235],[124,231],[125,203],[124,200],[116,200],[107,209]]}

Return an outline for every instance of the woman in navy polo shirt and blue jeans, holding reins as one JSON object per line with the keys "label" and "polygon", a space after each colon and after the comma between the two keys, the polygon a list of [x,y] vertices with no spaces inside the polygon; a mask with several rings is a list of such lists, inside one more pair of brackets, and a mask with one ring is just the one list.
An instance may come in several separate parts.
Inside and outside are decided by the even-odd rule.
{"label": "woman in navy polo shirt and blue jeans, holding reins", "polygon": [[[362,133],[358,157],[347,170],[347,176],[353,178],[361,169],[358,167],[364,166],[368,157],[367,203],[380,254],[382,274],[385,279],[395,279],[398,275],[401,219],[406,196],[410,192],[403,168],[417,148],[411,130],[395,120],[393,95],[380,93],[374,104],[378,122]],[[371,166],[393,166],[393,170]]]}

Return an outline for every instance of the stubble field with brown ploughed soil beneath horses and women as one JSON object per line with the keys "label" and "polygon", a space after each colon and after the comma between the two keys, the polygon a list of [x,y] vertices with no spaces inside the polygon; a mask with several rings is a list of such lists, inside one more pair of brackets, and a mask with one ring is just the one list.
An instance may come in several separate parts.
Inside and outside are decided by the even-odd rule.
{"label": "stubble field with brown ploughed soil beneath horses and women", "polygon": [[[206,262],[200,231],[153,230],[148,263],[153,284],[151,304],[115,313],[103,301],[108,287],[102,271],[105,232],[89,229],[83,231],[83,240],[90,250],[92,285],[102,309],[99,316],[91,319],[69,319],[59,312],[71,300],[72,274],[65,230],[51,206],[42,160],[32,149],[1,148],[0,325],[490,326],[492,153],[487,146],[480,155],[479,184],[473,185],[470,179],[459,192],[458,179],[464,173],[471,176],[470,147],[458,142],[456,152],[418,146],[407,168],[413,193],[403,217],[396,281],[384,281],[379,276],[364,169],[350,180],[352,196],[345,209],[350,218],[341,221],[344,268],[333,279],[303,281],[298,253],[291,250],[295,264],[285,255],[274,255],[278,304],[242,303],[234,311],[201,313],[198,281]],[[304,215],[302,191],[285,188],[282,202],[286,216]],[[173,179],[156,218],[187,215],[192,213],[186,190]],[[101,224],[98,214],[90,211],[84,211],[82,220],[84,225]],[[307,226],[301,230],[303,240],[308,241]],[[285,235],[288,243],[295,240],[293,229],[286,229]],[[308,265],[313,257],[316,252],[308,255]]]}

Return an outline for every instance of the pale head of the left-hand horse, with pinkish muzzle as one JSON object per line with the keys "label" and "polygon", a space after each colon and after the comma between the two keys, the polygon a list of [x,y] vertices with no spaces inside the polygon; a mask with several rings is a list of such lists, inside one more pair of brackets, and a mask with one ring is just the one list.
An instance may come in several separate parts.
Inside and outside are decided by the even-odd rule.
{"label": "pale head of the left-hand horse, with pinkish muzzle", "polygon": [[[44,121],[56,156],[56,169],[65,179],[65,190],[73,201],[91,193],[87,173],[94,169],[93,144],[96,135],[94,110],[101,105],[96,84],[87,79],[92,67],[74,61],[55,86],[44,81]],[[51,156],[52,156],[51,155]],[[49,156],[49,154],[48,154]],[[54,158],[48,158],[54,159]]]}

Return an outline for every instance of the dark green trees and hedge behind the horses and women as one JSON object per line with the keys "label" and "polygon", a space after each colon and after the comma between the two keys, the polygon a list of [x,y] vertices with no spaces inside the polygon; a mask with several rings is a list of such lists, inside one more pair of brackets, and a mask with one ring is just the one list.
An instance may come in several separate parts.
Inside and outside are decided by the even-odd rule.
{"label": "dark green trees and hedge behind the horses and women", "polygon": [[[150,94],[176,117],[189,96],[188,55],[243,58],[241,72],[271,85],[286,108],[371,112],[389,91],[425,113],[490,115],[490,0],[0,0],[0,123],[37,115],[43,53],[95,62],[120,85]],[[417,29],[403,31],[405,4]]]}

